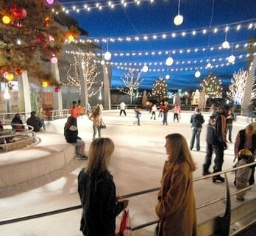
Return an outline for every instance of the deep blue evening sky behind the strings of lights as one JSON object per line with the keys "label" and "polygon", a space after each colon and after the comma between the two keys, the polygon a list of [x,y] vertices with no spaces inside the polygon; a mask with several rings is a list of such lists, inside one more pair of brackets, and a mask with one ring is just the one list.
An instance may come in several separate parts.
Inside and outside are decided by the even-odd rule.
{"label": "deep blue evening sky behind the strings of lights", "polygon": [[[89,37],[99,40],[103,53],[107,51],[107,43],[103,39],[109,38],[108,49],[112,54],[110,61],[115,63],[113,88],[123,86],[120,77],[127,70],[120,67],[124,63],[131,63],[130,67],[139,71],[144,63],[148,65],[149,71],[142,74],[143,88],[152,88],[154,81],[159,76],[165,78],[166,74],[171,76],[171,79],[166,80],[169,89],[199,88],[202,79],[210,72],[214,72],[222,84],[227,86],[235,71],[246,69],[247,52],[243,46],[249,36],[256,37],[253,27],[248,28],[249,24],[256,23],[255,0],[181,0],[180,14],[183,15],[184,21],[180,26],[175,26],[173,22],[178,12],[178,0],[154,0],[153,3],[142,0],[139,5],[135,4],[135,1],[126,0],[132,3],[127,4],[125,8],[118,0],[111,1],[115,5],[113,9],[102,7],[102,10],[96,8],[96,3],[104,6],[108,1],[59,2],[65,10],[70,10],[68,14],[79,22],[79,26],[89,32]],[[91,7],[89,12],[84,10],[85,4]],[[80,9],[79,12],[77,9]],[[237,30],[239,24],[241,29]],[[229,26],[227,41],[230,48],[219,49],[226,37],[226,26]],[[213,32],[215,28],[218,29],[216,33]],[[207,33],[204,34],[203,29],[207,29]],[[197,32],[196,35],[192,35],[193,30]],[[186,35],[182,36],[182,32]],[[160,37],[164,33],[165,39]],[[171,37],[173,33],[177,36]],[[152,39],[154,34],[159,37]],[[143,40],[144,35],[148,35],[149,39]],[[133,40],[118,42],[118,37],[131,37]],[[135,37],[140,37],[140,40],[134,40]],[[115,42],[112,42],[111,38],[115,39]],[[198,51],[195,51],[196,49]],[[168,54],[165,54],[166,51]],[[132,52],[135,56],[131,56]],[[153,52],[153,56],[145,55]],[[121,56],[128,53],[129,56]],[[142,55],[139,55],[140,53]],[[235,64],[227,65],[227,57],[231,54],[236,57]],[[169,55],[174,59],[174,64],[167,67],[165,61]],[[207,60],[210,60],[213,68],[205,68]],[[197,70],[201,72],[199,78],[194,76]]]}

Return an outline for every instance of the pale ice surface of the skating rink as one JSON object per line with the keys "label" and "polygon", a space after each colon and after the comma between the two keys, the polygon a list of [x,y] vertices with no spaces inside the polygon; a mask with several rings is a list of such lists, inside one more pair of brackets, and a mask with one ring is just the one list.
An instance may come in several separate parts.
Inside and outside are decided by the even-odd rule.
{"label": "pale ice surface of the skating rink", "polygon": [[[103,137],[110,137],[115,143],[115,152],[110,162],[110,171],[119,195],[127,195],[141,190],[147,190],[160,186],[160,177],[163,162],[166,160],[164,149],[165,136],[172,132],[179,132],[186,137],[188,142],[191,137],[191,125],[189,119],[191,112],[183,112],[179,123],[173,122],[173,114],[168,116],[168,126],[163,126],[161,119],[150,120],[150,115],[143,112],[141,126],[135,123],[135,114],[132,110],[127,116],[119,116],[118,110],[104,111],[104,123],[107,129],[102,130]],[[205,120],[208,118],[208,113]],[[63,133],[65,119],[47,121],[46,129],[49,132]],[[86,149],[92,139],[92,123],[87,117],[79,118],[79,136],[86,142]],[[235,123],[232,140],[239,129],[243,129],[246,123]],[[205,131],[202,131],[201,151],[192,151],[193,159],[196,162],[197,170],[194,178],[202,176],[202,163],[205,160]],[[64,137],[63,137],[64,138]],[[49,137],[51,142],[51,137]],[[233,143],[228,144],[225,151],[224,169],[232,168]],[[73,169],[60,179],[47,183],[38,182],[37,186],[27,186],[24,190],[12,193],[0,199],[0,221],[9,218],[18,218],[25,215],[38,214],[51,210],[58,210],[65,207],[79,205],[77,195],[77,174],[87,164],[87,161],[74,160]],[[228,174],[230,190],[235,191],[232,182],[234,176]],[[223,198],[226,187],[224,184],[212,183],[210,179],[203,179],[195,182],[196,205],[212,201],[216,198]],[[30,189],[29,189],[30,188]],[[32,188],[32,189],[31,189]],[[129,200],[129,211],[132,219],[132,226],[138,226],[157,219],[154,214],[156,204],[156,192],[132,197]],[[255,192],[250,191],[246,198],[250,199]],[[232,204],[240,204],[232,199]],[[198,210],[199,223],[213,215],[224,212],[224,201],[219,201],[210,209]],[[53,215],[35,220],[23,221],[15,224],[1,226],[0,235],[12,236],[79,236],[79,217],[81,210],[73,210],[59,215]],[[154,226],[146,227],[134,232],[134,236],[152,235]]]}

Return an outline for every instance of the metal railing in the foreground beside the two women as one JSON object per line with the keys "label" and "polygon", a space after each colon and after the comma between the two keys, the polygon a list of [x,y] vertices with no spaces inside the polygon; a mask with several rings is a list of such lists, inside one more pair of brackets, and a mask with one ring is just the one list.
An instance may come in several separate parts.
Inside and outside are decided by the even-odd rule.
{"label": "metal railing in the foreground beside the two women", "polygon": [[[249,189],[254,188],[255,185],[251,185],[249,187],[244,188],[243,190],[239,190],[239,191],[235,191],[234,193],[230,193],[230,189],[229,189],[228,181],[227,181],[228,180],[227,179],[227,174],[228,173],[234,172],[234,171],[236,171],[238,169],[241,169],[241,168],[249,167],[251,165],[255,165],[255,162],[247,164],[247,165],[243,165],[243,166],[240,166],[240,167],[237,167],[237,168],[230,168],[230,169],[227,169],[225,171],[221,171],[221,172],[217,172],[217,173],[214,173],[214,174],[209,174],[207,176],[202,176],[202,177],[198,177],[198,178],[193,179],[193,182],[198,182],[200,180],[208,179],[208,178],[210,178],[212,176],[216,176],[218,174],[224,174],[225,180],[226,180],[226,186],[227,186],[226,196],[222,196],[221,198],[214,199],[214,200],[209,201],[205,204],[201,204],[199,206],[196,206],[196,210],[199,210],[199,209],[202,209],[204,207],[208,207],[210,205],[213,205],[218,201],[224,201],[224,199],[226,199],[226,202],[228,204],[228,203],[230,203],[230,197],[231,196],[235,196],[237,193],[240,193],[243,190],[249,190]],[[128,194],[125,194],[121,197],[124,198],[124,199],[129,199],[129,198],[132,198],[132,197],[135,197],[135,196],[141,196],[143,194],[152,193],[152,192],[155,192],[155,191],[158,191],[158,190],[160,190],[160,187],[154,187],[154,188],[151,188],[151,189],[148,189],[148,190],[142,190],[142,191],[138,191],[138,192],[135,192],[135,193],[128,193]],[[27,221],[27,220],[32,220],[32,219],[35,219],[35,218],[47,217],[47,216],[50,216],[50,215],[56,215],[56,214],[60,214],[60,213],[63,213],[63,212],[70,212],[70,211],[73,211],[73,210],[79,210],[81,208],[82,208],[82,206],[79,204],[79,205],[73,206],[73,207],[66,207],[66,208],[59,209],[59,210],[52,210],[52,211],[49,211],[49,212],[42,212],[42,213],[35,214],[35,215],[27,215],[27,216],[20,217],[20,218],[13,218],[13,219],[5,220],[5,221],[0,221],[0,225],[13,224],[13,223],[20,222],[20,221]],[[230,211],[230,212],[228,212],[228,211]],[[225,214],[231,214],[231,207],[228,206],[228,205],[226,205]],[[219,218],[219,217],[216,215],[216,218]],[[223,224],[226,228],[228,227],[228,229],[226,229],[226,231],[229,232],[229,230],[230,230],[230,218],[228,218],[227,220],[229,222],[223,222],[223,220],[221,220],[221,222],[222,222],[221,224]],[[142,229],[146,226],[151,226],[153,224],[157,224],[157,222],[158,222],[158,220],[156,219],[154,221],[146,222],[145,224],[140,224],[138,226],[133,226],[132,231]],[[252,222],[250,224],[247,224],[246,226],[241,228],[240,231],[242,231],[243,229],[248,228],[248,226],[250,226],[252,224],[255,224],[254,219],[252,219]],[[224,233],[221,234],[221,236],[226,236],[226,235],[227,234],[224,234]]]}

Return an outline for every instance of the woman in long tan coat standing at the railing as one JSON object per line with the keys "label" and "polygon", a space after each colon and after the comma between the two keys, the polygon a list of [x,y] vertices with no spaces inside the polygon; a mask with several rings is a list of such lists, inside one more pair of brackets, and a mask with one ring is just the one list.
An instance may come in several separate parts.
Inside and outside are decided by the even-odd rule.
{"label": "woman in long tan coat standing at the railing", "polygon": [[166,136],[166,160],[158,203],[160,236],[196,236],[196,204],[193,193],[193,163],[188,143],[180,134]]}

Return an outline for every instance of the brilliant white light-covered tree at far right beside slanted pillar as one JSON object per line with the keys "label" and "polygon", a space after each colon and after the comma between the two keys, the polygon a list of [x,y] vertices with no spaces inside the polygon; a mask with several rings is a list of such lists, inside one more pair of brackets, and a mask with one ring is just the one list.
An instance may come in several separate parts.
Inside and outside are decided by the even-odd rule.
{"label": "brilliant white light-covered tree at far right beside slanted pillar", "polygon": [[235,72],[231,79],[231,85],[229,86],[229,92],[227,92],[228,98],[234,101],[234,104],[241,105],[244,97],[244,90],[248,79],[248,71],[240,69]]}

